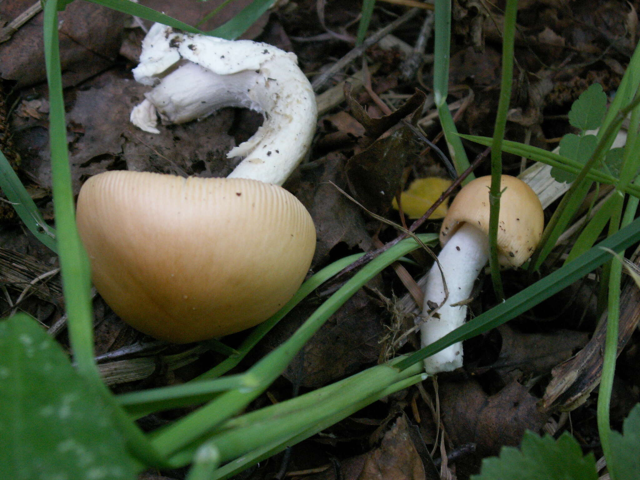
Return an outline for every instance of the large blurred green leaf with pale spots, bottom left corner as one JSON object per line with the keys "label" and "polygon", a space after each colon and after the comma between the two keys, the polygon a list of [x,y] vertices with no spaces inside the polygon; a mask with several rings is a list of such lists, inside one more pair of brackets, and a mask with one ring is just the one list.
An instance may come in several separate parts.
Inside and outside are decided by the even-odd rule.
{"label": "large blurred green leaf with pale spots, bottom left corner", "polygon": [[0,477],[136,477],[108,407],[35,320],[0,319],[0,352]]}

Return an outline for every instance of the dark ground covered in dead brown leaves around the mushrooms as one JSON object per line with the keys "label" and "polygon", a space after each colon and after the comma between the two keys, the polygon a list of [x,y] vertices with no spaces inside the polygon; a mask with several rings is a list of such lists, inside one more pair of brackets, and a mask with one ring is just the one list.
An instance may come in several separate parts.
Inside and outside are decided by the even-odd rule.
{"label": "dark ground covered in dead brown leaves around the mushrooms", "polygon": [[[33,0],[6,0],[0,3],[0,17],[12,20],[32,3]],[[222,2],[140,3],[196,24]],[[249,0],[230,3],[200,28],[207,30],[222,24],[248,3]],[[491,136],[493,132],[500,88],[503,3],[453,2],[447,101],[452,105],[458,131],[463,133]],[[294,52],[301,69],[313,82],[355,47],[361,6],[360,2],[336,0],[279,2],[243,38]],[[611,99],[636,47],[639,6],[638,0],[521,0],[505,138],[551,150],[561,136],[572,131],[568,111],[589,85],[602,84]],[[379,1],[369,35],[407,11],[407,7]],[[88,177],[106,170],[206,177],[225,176],[232,170],[234,162],[227,160],[226,152],[257,130],[262,122],[260,115],[225,108],[198,122],[162,127],[157,135],[142,132],[128,121],[132,106],[148,90],[134,82],[131,75],[140,54],[142,29],[126,15],[88,2],[71,3],[60,15],[75,193]],[[366,49],[364,61],[351,61],[316,88],[316,93],[321,94],[366,67],[365,78],[370,85],[353,82],[350,90],[333,93],[335,104],[321,111],[312,150],[285,184],[305,204],[316,224],[318,242],[311,272],[394,239],[399,230],[380,221],[379,216],[396,225],[406,223],[391,208],[396,193],[415,179],[450,177],[447,164],[411,125],[420,125],[426,137],[447,152],[433,101],[430,31],[425,53],[413,58],[413,67],[406,62],[429,15],[430,10],[420,9],[390,36]],[[49,103],[41,38],[42,13],[0,44],[0,148],[45,219],[53,224]],[[396,113],[390,114],[391,111]],[[484,150],[471,142],[464,145],[470,159]],[[504,173],[518,175],[521,170],[519,157],[504,156]],[[488,162],[484,162],[476,175],[489,171]],[[348,191],[359,204],[336,186]],[[546,209],[547,219],[555,205]],[[419,232],[437,232],[438,228],[437,220],[429,220]],[[568,248],[570,244],[551,255],[542,273],[557,268]],[[24,285],[56,268],[57,259],[28,233],[6,202],[0,202],[0,253],[0,282],[6,293],[0,298],[0,311],[6,314],[15,308],[13,301]],[[420,254],[413,260],[414,264],[406,265],[406,271],[417,280],[428,271],[431,260]],[[600,458],[595,415],[597,369],[585,374],[580,384],[573,384],[568,392],[553,390],[563,375],[579,371],[590,361],[589,352],[599,351],[601,346],[597,275],[595,271],[595,275],[534,310],[467,340],[464,366],[458,371],[440,374],[371,404],[237,478],[420,480],[442,476],[463,480],[479,471],[486,456],[497,454],[504,445],[520,444],[526,429],[554,436],[570,430],[584,452],[594,452]],[[505,272],[506,294],[520,291],[533,280],[522,271]],[[232,373],[244,371],[281,344],[343,281],[344,278],[324,285],[303,301]],[[411,287],[412,282],[408,283]],[[626,322],[623,325],[627,326],[628,335],[621,346],[611,405],[616,428],[640,400],[636,368],[640,362],[640,335],[636,328],[640,296],[632,282],[625,285],[621,321]],[[12,305],[8,299],[12,299]],[[482,276],[470,301],[472,315],[495,303],[490,278]],[[45,326],[60,324],[64,300],[59,276],[51,276],[42,286],[31,289],[18,307]],[[224,358],[193,344],[158,344],[122,322],[99,296],[94,307],[95,350],[96,355],[102,356],[100,360],[106,363],[147,358],[151,365],[132,376],[112,374],[109,384],[116,393],[184,383]],[[396,271],[383,271],[324,324],[283,376],[251,408],[323,387],[382,362],[391,354],[414,351],[419,348],[415,335],[397,339],[414,326],[417,313],[419,309]],[[58,340],[68,348],[64,328],[56,332]],[[223,342],[237,346],[244,335],[237,333]],[[188,361],[172,360],[173,355],[183,352],[190,352],[186,355]],[[593,390],[590,395],[589,389]],[[575,400],[585,392],[580,401]],[[154,429],[188,411],[183,408],[157,413],[140,422],[143,428]],[[185,475],[186,470],[146,472],[140,478],[183,479]]]}

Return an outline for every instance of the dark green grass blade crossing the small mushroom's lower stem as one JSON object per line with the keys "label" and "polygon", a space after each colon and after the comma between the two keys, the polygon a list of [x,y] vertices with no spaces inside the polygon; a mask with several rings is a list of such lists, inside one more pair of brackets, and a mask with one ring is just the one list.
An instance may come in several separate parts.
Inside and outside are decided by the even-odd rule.
{"label": "dark green grass blade crossing the small mushroom's lower stem", "polygon": [[582,276],[587,275],[596,267],[604,264],[604,262],[611,260],[611,253],[602,250],[600,247],[608,248],[614,252],[621,252],[637,241],[640,241],[640,218],[594,246],[589,252],[584,253],[584,255],[573,260],[570,264],[564,265],[554,273],[518,292],[504,301],[504,303],[500,303],[491,310],[484,312],[453,332],[447,333],[442,339],[413,353],[410,357],[400,362],[397,367],[406,368],[455,342],[475,337],[523,314],[541,301],[568,287]]}

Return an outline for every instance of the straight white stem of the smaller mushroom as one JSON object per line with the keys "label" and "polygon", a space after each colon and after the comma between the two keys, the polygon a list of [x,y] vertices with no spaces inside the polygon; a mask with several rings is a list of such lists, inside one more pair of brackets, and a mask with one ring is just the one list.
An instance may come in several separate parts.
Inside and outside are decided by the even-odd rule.
{"label": "straight white stem of the smaller mushroom", "polygon": [[[427,346],[452,332],[467,319],[467,305],[456,305],[467,300],[474,282],[489,258],[489,241],[476,227],[465,223],[447,241],[438,255],[447,282],[449,296],[438,312],[420,326],[422,346]],[[434,262],[424,292],[424,312],[433,310],[445,300],[442,273]],[[428,305],[429,302],[429,305]],[[462,366],[462,342],[439,351],[424,360],[428,374],[449,372]]]}

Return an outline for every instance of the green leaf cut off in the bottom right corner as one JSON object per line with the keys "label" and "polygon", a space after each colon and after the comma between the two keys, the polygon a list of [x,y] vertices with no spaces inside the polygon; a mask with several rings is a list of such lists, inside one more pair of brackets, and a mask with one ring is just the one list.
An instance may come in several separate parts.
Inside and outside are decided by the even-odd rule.
{"label": "green leaf cut off in the bottom right corner", "polygon": [[640,403],[623,424],[623,433],[611,432],[609,473],[615,480],[640,479]]}

